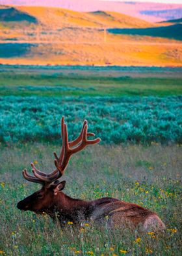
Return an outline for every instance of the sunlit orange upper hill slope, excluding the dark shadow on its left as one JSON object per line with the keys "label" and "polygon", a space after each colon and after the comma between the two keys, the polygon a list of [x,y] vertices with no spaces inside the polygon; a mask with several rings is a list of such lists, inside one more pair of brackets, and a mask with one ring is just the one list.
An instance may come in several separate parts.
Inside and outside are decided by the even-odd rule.
{"label": "sunlit orange upper hill slope, excluding the dark shadow on its left", "polygon": [[[76,12],[63,8],[46,7],[16,7],[21,12],[34,16],[41,24],[51,28],[64,26],[81,27],[149,27],[154,24],[131,18],[117,12]],[[49,22],[51,20],[51,23]]]}

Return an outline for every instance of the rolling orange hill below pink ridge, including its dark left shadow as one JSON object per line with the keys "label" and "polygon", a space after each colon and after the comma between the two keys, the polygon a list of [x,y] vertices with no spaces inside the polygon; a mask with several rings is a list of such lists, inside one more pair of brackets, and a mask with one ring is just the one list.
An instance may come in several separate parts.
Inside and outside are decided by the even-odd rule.
{"label": "rolling orange hill below pink ridge, including its dark left shadow", "polygon": [[[118,12],[76,12],[51,7],[0,8],[1,22],[38,22],[52,29],[62,27],[149,27],[154,24]],[[10,25],[10,24],[9,24]],[[19,23],[17,24],[19,27]],[[19,27],[20,28],[20,27]]]}

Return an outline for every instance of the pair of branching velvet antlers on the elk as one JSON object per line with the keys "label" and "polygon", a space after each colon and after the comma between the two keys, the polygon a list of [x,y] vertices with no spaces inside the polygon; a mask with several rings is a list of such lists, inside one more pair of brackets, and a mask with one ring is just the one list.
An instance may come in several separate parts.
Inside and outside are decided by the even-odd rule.
{"label": "pair of branching velvet antlers on the elk", "polygon": [[64,116],[61,120],[61,135],[62,135],[62,148],[60,151],[60,156],[57,156],[57,153],[54,152],[55,155],[55,166],[56,169],[46,174],[45,172],[41,172],[38,170],[33,163],[31,163],[32,172],[34,176],[31,176],[27,169],[23,170],[23,177],[26,180],[29,180],[29,182],[36,182],[40,183],[42,185],[49,185],[58,178],[60,178],[64,171],[66,170],[66,167],[68,165],[68,162],[70,160],[70,157],[81,150],[83,150],[86,146],[91,144],[97,144],[100,142],[100,138],[96,138],[94,140],[88,140],[88,136],[95,136],[94,133],[87,133],[88,125],[87,121],[85,120],[83,122],[83,127],[81,129],[80,135],[73,140],[72,142],[68,142],[68,129],[66,123],[64,123]]}

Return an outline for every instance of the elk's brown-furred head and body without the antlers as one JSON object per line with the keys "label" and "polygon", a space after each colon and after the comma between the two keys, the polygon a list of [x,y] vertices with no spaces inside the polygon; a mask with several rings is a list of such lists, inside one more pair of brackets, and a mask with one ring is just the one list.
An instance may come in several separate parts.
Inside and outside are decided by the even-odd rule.
{"label": "elk's brown-furred head and body without the antlers", "polygon": [[53,219],[57,217],[62,226],[68,221],[75,224],[90,220],[101,223],[109,219],[109,227],[123,227],[126,223],[133,228],[142,225],[147,231],[162,230],[165,227],[157,214],[137,204],[110,197],[91,201],[72,199],[61,191],[55,195],[54,190],[55,185],[43,187],[21,200],[18,208],[31,210],[36,214],[45,212]]}

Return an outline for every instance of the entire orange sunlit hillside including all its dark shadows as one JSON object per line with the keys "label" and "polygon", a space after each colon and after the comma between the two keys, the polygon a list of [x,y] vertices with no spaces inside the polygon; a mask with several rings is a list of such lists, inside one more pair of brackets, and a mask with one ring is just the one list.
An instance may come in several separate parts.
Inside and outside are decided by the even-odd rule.
{"label": "entire orange sunlit hillside including all its dark shadows", "polygon": [[0,63],[180,66],[181,24],[170,25],[117,12],[1,6]]}

